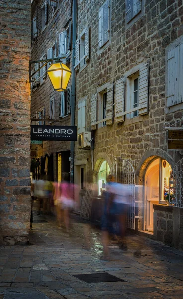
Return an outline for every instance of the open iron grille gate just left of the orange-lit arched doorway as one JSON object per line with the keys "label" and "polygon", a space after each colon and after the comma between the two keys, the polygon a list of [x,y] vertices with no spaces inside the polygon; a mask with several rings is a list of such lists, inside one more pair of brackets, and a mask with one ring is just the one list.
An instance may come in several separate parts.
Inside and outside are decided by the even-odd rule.
{"label": "open iron grille gate just left of the orange-lit arched doorway", "polygon": [[112,163],[110,173],[115,175],[118,183],[127,184],[130,188],[127,227],[135,229],[135,171],[133,165],[128,160],[117,157]]}

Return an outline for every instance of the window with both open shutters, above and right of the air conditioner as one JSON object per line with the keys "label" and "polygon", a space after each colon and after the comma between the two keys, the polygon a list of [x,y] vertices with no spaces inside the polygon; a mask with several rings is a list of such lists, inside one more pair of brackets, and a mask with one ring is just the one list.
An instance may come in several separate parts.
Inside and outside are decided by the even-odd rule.
{"label": "window with both open shutters, above and right of the air conditioner", "polygon": [[91,97],[91,130],[113,123],[113,83],[106,83]]}

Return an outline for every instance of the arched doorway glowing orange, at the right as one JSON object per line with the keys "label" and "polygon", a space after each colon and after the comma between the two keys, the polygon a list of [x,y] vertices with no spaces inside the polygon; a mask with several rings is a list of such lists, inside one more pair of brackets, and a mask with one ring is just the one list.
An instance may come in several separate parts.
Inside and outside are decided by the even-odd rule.
{"label": "arched doorway glowing orange, at the right", "polygon": [[145,172],[144,230],[153,232],[153,204],[167,204],[171,165],[160,157],[155,157]]}

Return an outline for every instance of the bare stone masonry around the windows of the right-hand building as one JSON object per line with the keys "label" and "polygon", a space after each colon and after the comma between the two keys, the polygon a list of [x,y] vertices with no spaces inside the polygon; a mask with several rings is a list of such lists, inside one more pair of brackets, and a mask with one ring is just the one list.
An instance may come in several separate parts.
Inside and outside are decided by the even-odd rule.
{"label": "bare stone masonry around the windows of the right-hand building", "polygon": [[[143,2],[143,1],[142,1]],[[93,5],[94,3],[94,5]],[[98,154],[108,156],[109,164],[115,157],[132,162],[136,170],[147,151],[154,148],[167,154],[174,166],[181,158],[179,150],[168,149],[165,122],[173,124],[183,120],[183,105],[167,109],[165,96],[166,47],[183,36],[183,1],[144,1],[144,12],[134,18],[132,25],[125,23],[125,0],[111,1],[111,43],[102,52],[98,50],[98,11],[104,0],[80,1],[78,3],[78,36],[90,27],[90,60],[76,74],[76,105],[87,96],[86,131],[90,131],[91,96],[104,83],[120,79],[139,63],[149,64],[149,112],[131,120],[99,128],[95,131],[94,164]],[[182,103],[183,104],[183,103]],[[113,111],[115,116],[115,108]],[[76,106],[77,124],[77,106]],[[181,123],[177,123],[180,126]],[[75,147],[75,160],[89,160],[91,152]],[[98,169],[95,169],[96,171]],[[91,171],[90,177],[93,172]]]}

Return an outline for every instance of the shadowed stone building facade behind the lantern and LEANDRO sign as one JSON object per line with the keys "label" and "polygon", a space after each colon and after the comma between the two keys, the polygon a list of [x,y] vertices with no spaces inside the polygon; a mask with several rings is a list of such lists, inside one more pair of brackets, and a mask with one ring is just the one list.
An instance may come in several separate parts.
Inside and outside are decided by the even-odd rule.
{"label": "shadowed stone building facade behind the lantern and LEANDRO sign", "polygon": [[[71,67],[72,1],[34,0],[32,2],[31,60],[51,59],[65,54],[64,62]],[[41,63],[32,65],[32,72]],[[46,75],[47,66],[32,77],[31,119],[47,118],[53,121],[32,121],[33,125],[70,125],[71,80],[68,91],[58,92]],[[47,174],[50,180],[61,179],[62,171],[70,171],[70,142],[43,141],[31,145],[31,158],[39,158],[37,178]],[[39,173],[38,173],[39,171]]]}

